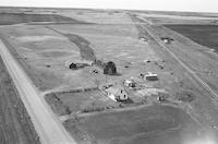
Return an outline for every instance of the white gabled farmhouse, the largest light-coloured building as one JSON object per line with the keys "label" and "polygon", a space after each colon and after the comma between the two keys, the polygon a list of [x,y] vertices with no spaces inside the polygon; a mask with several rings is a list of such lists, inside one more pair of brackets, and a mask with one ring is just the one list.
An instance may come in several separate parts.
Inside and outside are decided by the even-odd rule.
{"label": "white gabled farmhouse, the largest light-coloured building", "polygon": [[111,86],[106,88],[105,91],[107,93],[107,96],[114,101],[123,101],[129,99],[128,93],[123,87]]}

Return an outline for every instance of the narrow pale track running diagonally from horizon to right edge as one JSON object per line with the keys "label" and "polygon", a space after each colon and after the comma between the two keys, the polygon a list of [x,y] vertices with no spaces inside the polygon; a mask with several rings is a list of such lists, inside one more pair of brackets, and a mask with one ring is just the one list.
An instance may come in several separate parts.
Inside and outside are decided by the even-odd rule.
{"label": "narrow pale track running diagonally from horizon to right edge", "polygon": [[[137,17],[137,20],[140,22],[143,22],[142,19]],[[174,52],[172,52],[167,46],[165,46],[162,41],[160,41],[160,39],[157,37],[156,31],[147,22],[145,22],[145,24],[141,27],[144,28],[154,38],[154,40],[157,41],[157,44],[164,50],[166,50],[191,75],[191,77],[193,77],[210,94],[209,96],[213,98],[214,101],[218,103],[218,94],[206,82],[204,82],[186,63],[180,60],[180,58]]]}

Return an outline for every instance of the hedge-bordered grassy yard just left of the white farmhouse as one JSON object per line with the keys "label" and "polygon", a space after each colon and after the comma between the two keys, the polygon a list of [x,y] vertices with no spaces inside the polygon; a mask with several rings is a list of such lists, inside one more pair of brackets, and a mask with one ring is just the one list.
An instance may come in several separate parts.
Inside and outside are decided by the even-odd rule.
{"label": "hedge-bordered grassy yard just left of the white farmhouse", "polygon": [[118,108],[119,103],[112,101],[99,89],[87,92],[61,92],[45,96],[52,110],[59,115],[95,112]]}

